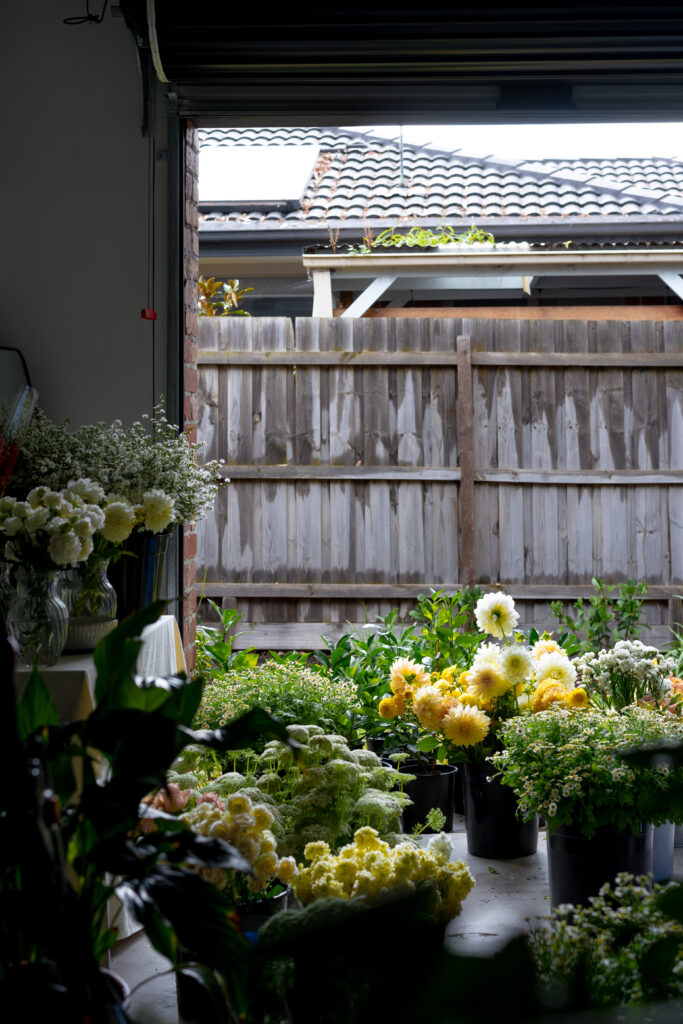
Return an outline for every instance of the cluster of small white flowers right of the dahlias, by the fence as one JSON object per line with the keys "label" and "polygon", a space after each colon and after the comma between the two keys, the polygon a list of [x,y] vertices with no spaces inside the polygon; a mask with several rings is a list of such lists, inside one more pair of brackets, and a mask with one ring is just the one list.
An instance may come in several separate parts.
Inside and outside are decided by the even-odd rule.
{"label": "cluster of small white flowers right of the dahlias, by the fence", "polygon": [[640,640],[618,640],[608,650],[587,651],[574,667],[599,708],[620,710],[636,702],[660,707],[672,692],[674,659]]}

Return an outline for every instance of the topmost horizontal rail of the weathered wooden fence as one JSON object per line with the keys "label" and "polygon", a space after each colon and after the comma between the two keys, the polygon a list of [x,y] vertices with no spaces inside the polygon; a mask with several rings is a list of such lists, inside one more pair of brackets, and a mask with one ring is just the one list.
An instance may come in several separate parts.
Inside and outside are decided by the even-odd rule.
{"label": "topmost horizontal rail of the weathered wooden fence", "polygon": [[[275,317],[273,317],[274,319]],[[305,318],[301,317],[302,323]],[[683,352],[516,352],[476,349],[471,353],[476,367],[651,367],[654,370],[683,369]],[[214,351],[200,349],[199,366],[232,367],[457,367],[454,351]]]}

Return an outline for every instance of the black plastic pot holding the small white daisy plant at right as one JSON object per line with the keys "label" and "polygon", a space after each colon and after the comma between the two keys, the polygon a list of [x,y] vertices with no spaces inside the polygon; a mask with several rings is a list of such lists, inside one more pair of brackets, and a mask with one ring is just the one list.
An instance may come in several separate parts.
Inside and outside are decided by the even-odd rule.
{"label": "black plastic pot holding the small white daisy plant at right", "polygon": [[648,874],[652,870],[652,825],[642,822],[638,834],[601,825],[587,839],[580,825],[559,825],[548,837],[550,902],[588,903],[605,882],[621,871]]}

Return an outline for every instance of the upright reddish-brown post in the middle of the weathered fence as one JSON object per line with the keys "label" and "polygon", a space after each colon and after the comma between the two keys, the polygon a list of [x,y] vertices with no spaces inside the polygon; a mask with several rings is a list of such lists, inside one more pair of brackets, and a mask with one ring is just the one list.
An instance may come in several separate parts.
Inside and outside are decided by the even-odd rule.
{"label": "upright reddish-brown post in the middle of the weathered fence", "polygon": [[476,583],[474,561],[474,453],[472,425],[472,360],[470,339],[458,338],[458,452],[460,455],[460,568],[461,579],[472,587]]}

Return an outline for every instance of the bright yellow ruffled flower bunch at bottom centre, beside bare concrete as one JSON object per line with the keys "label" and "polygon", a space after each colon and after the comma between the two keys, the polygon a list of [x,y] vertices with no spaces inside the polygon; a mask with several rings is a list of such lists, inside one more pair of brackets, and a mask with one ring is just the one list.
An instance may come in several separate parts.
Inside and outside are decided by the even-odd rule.
{"label": "bright yellow ruffled flower bunch at bottom centre, beside bare concrete", "polygon": [[330,852],[327,843],[317,842],[309,843],[304,855],[310,864],[299,864],[299,873],[292,881],[294,895],[304,906],[327,896],[364,896],[372,902],[431,882],[435,887],[434,916],[445,923],[460,913],[462,901],[474,886],[467,864],[450,859],[451,843],[443,833],[433,837],[427,849],[418,849],[413,843],[392,848],[366,825],[337,854]]}

